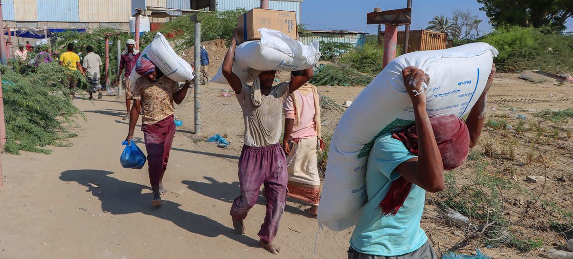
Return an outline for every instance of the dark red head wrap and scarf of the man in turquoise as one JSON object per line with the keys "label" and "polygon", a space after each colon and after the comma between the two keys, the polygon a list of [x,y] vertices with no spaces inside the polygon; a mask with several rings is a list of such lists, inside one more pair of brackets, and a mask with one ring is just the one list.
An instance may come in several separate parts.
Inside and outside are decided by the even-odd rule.
{"label": "dark red head wrap and scarf of the man in turquoise", "polygon": [[[430,123],[442,162],[444,162],[444,169],[454,169],[463,164],[469,153],[469,132],[465,122],[455,115],[442,115],[430,118]],[[392,137],[401,141],[409,152],[418,156],[418,135],[415,125],[393,133]],[[382,210],[382,215],[396,215],[411,189],[412,183],[406,178],[399,177],[394,180],[388,193],[378,205],[378,208]]]}

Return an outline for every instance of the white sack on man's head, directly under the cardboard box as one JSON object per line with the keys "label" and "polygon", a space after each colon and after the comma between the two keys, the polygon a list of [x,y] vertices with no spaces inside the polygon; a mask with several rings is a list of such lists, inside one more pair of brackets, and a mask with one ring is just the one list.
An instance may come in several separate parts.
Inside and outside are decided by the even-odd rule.
{"label": "white sack on man's head, directly under the cardboard box", "polygon": [[[248,78],[250,69],[304,70],[316,65],[320,59],[318,41],[304,45],[281,31],[266,28],[258,31],[261,33],[260,41],[246,41],[235,49],[233,73],[243,82],[252,80]],[[222,66],[223,64],[219,66],[211,82],[228,84],[227,79],[223,77]]]}

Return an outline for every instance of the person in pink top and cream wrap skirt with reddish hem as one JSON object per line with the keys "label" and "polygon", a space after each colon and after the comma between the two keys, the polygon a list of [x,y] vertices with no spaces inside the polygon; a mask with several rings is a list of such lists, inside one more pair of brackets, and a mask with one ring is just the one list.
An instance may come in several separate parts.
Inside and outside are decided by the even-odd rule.
{"label": "person in pink top and cream wrap skirt with reddish hem", "polygon": [[[292,71],[291,78],[303,71]],[[283,105],[285,134],[282,148],[286,154],[288,193],[286,196],[307,202],[304,209],[316,218],[320,201],[318,153],[323,152],[320,137],[320,99],[316,87],[305,83],[293,91]]]}

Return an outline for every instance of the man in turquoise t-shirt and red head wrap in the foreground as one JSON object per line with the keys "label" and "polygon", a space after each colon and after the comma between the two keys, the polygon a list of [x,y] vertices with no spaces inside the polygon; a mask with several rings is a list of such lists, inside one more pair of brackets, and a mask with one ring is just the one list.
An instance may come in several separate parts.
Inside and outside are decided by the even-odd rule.
{"label": "man in turquoise t-shirt and red head wrap in the foreground", "polygon": [[372,146],[366,169],[368,202],[359,210],[348,259],[437,258],[420,228],[426,191],[444,190],[444,169],[462,165],[476,144],[495,73],[492,65],[484,91],[464,122],[455,115],[429,118],[422,83],[430,78],[413,66],[402,70],[415,124],[380,136]]}

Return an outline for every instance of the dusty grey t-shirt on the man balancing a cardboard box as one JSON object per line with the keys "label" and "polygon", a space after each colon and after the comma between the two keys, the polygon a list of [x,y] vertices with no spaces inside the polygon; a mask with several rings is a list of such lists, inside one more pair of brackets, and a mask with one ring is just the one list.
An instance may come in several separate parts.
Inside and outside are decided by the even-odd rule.
{"label": "dusty grey t-shirt on the man balancing a cardboard box", "polygon": [[281,137],[282,103],[289,94],[289,82],[273,86],[269,95],[262,95],[261,106],[254,106],[251,100],[252,87],[243,83],[237,100],[245,119],[245,145],[270,146]]}

